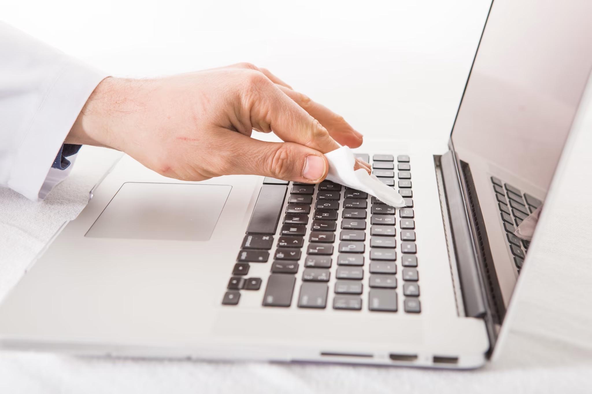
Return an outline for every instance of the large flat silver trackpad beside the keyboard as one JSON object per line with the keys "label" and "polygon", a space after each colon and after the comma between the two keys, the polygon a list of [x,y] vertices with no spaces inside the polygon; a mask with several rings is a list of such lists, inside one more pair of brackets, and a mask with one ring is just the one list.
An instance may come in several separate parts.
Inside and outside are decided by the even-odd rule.
{"label": "large flat silver trackpad beside the keyboard", "polygon": [[214,231],[231,188],[127,182],[85,236],[205,241]]}

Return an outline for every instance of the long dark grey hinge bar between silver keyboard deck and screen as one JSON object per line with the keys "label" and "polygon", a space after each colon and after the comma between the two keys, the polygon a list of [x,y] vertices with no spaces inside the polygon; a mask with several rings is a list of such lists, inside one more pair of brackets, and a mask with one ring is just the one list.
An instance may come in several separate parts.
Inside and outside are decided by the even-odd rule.
{"label": "long dark grey hinge bar between silver keyboard deck and screen", "polygon": [[475,252],[468,222],[468,213],[466,212],[461,190],[461,181],[456,170],[452,151],[442,155],[440,165],[465,315],[468,317],[484,317],[486,313],[485,300],[477,271],[477,253]]}

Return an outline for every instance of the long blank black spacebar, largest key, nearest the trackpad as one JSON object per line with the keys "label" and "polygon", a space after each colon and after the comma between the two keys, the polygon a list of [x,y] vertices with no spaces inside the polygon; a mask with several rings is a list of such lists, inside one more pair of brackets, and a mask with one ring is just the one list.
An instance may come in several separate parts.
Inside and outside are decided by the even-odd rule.
{"label": "long blank black spacebar, largest key, nearest the trackpad", "polygon": [[247,227],[247,234],[275,234],[287,190],[288,187],[285,185],[261,187],[249,227]]}

